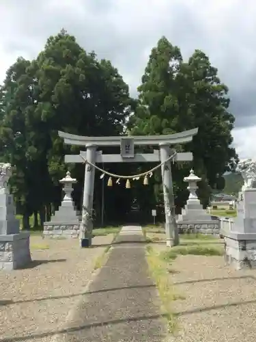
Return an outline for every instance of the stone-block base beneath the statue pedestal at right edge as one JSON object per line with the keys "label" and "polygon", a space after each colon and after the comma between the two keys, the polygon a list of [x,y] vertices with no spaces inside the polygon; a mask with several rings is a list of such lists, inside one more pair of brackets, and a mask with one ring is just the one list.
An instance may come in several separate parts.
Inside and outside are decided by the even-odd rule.
{"label": "stone-block base beneath the statue pedestal at right edge", "polygon": [[[224,236],[225,261],[236,269],[256,268],[256,234],[253,239],[239,239],[236,236]],[[244,236],[246,237],[246,236]]]}

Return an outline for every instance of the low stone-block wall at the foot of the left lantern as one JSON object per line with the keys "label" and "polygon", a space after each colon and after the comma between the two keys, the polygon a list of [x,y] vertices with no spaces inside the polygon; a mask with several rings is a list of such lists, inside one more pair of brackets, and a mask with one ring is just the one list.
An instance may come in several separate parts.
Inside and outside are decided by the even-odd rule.
{"label": "low stone-block wall at the foot of the left lantern", "polygon": [[57,224],[56,222],[46,222],[44,224],[44,237],[76,238],[79,237],[79,224]]}

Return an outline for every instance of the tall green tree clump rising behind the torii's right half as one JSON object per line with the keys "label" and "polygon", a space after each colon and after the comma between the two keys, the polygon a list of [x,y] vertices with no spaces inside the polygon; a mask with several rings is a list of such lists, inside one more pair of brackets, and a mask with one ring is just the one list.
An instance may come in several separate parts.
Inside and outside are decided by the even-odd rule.
{"label": "tall green tree clump rising behind the torii's right half", "polygon": [[[228,111],[227,86],[203,52],[196,50],[185,63],[180,49],[162,37],[152,49],[138,91],[139,103],[129,122],[131,133],[167,134],[199,127],[193,142],[174,148],[193,152],[193,168],[203,178],[199,193],[206,204],[210,187],[216,186],[217,178],[231,170],[237,159],[231,148],[234,118]],[[178,206],[187,196],[182,180],[188,171],[186,164],[173,166]],[[157,180],[156,184],[159,196],[162,189]]]}

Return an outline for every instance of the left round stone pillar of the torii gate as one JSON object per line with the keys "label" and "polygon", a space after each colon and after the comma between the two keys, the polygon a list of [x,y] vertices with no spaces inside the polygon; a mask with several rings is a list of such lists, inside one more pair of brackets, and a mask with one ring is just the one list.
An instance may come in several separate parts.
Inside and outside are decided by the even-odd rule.
{"label": "left round stone pillar of the torii gate", "polygon": [[[86,146],[86,159],[95,164],[96,163],[96,148],[94,144]],[[94,206],[94,176],[95,168],[89,164],[85,165],[85,183],[83,187],[83,211],[82,222],[80,227],[81,247],[91,246],[91,233],[93,226],[92,214]]]}

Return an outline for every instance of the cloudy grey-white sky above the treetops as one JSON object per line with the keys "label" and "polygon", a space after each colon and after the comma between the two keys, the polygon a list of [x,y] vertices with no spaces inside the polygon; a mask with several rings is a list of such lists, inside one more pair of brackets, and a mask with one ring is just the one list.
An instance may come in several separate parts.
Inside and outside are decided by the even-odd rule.
{"label": "cloudy grey-white sky above the treetops", "polygon": [[135,94],[148,55],[165,35],[186,60],[202,49],[230,90],[240,157],[256,157],[256,3],[253,0],[5,0],[0,81],[16,57],[35,57],[65,28],[106,57]]}

